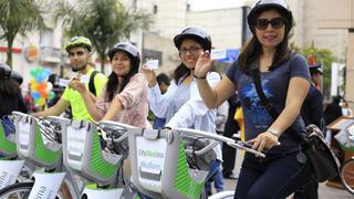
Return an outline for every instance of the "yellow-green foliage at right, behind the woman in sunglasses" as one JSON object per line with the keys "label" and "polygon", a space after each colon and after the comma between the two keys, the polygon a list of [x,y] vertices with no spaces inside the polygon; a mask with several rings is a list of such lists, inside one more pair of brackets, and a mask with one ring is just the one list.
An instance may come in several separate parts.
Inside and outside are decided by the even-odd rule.
{"label": "yellow-green foliage at right, behind the woman in sunglasses", "polygon": [[314,55],[316,63],[322,64],[323,93],[329,94],[331,91],[331,64],[332,62],[336,62],[337,59],[332,54],[332,52],[329,49],[317,49],[310,45],[299,50],[300,53],[303,54],[305,57]]}

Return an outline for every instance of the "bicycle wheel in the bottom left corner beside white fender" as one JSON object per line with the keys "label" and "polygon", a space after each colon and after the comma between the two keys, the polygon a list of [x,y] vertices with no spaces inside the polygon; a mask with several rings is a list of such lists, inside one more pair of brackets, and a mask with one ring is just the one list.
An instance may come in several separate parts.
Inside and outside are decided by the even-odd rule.
{"label": "bicycle wheel in the bottom left corner beside white fender", "polygon": [[25,199],[29,198],[34,182],[20,182],[0,190],[0,198]]}

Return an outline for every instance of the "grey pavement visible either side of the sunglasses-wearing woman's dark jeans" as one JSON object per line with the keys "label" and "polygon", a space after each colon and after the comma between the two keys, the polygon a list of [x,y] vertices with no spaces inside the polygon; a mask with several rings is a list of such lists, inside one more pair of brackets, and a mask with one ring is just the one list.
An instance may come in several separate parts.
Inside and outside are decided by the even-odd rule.
{"label": "grey pavement visible either side of the sunglasses-wearing woman's dark jeans", "polygon": [[[242,157],[240,155],[241,153],[237,153],[237,160],[233,174],[238,176],[241,167]],[[235,190],[237,180],[230,180],[225,179],[226,190]],[[288,197],[288,199],[291,199],[292,197]],[[348,193],[344,189],[337,189],[333,187],[329,187],[325,184],[320,184],[319,187],[319,199],[354,199],[354,196]]]}

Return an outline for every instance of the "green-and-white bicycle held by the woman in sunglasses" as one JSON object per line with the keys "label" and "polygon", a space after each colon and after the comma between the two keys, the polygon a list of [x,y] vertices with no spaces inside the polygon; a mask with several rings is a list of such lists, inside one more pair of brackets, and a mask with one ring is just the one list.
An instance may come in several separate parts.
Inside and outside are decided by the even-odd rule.
{"label": "green-and-white bicycle held by the woman in sunglasses", "polygon": [[[216,158],[212,148],[220,143],[266,157],[247,143],[207,132],[132,129],[128,132],[132,184],[143,196],[154,199],[202,198],[209,165]],[[218,196],[233,198],[233,191]]]}

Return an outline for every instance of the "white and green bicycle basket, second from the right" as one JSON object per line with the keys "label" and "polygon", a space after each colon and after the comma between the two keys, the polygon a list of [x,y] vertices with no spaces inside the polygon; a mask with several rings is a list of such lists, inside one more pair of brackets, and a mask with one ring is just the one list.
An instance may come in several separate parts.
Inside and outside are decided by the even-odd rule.
{"label": "white and green bicycle basket, second from the right", "polygon": [[72,121],[63,130],[64,163],[80,176],[100,186],[112,184],[122,156],[102,150],[96,125],[87,121]]}

